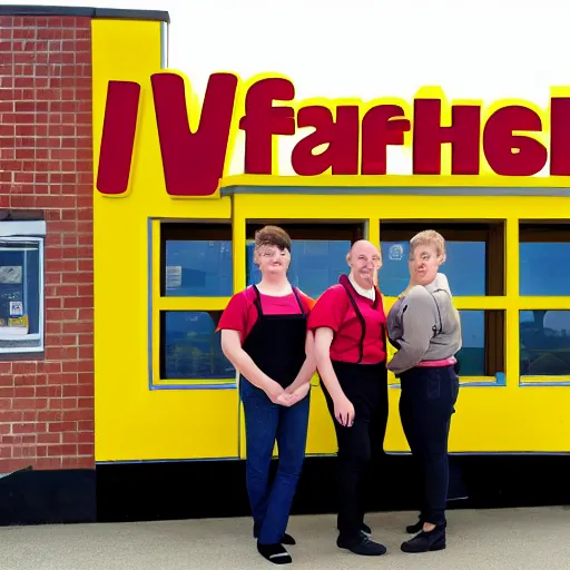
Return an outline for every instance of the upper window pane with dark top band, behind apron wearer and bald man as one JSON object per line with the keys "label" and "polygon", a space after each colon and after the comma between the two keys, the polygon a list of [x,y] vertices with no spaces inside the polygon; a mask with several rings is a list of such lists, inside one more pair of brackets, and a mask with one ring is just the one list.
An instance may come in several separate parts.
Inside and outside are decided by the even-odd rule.
{"label": "upper window pane with dark top band, behind apron wearer and bald man", "polygon": [[[248,224],[246,229],[247,285],[261,279],[254,264],[255,232],[265,224]],[[364,236],[363,224],[278,224],[292,238],[288,278],[309,297],[318,297],[348,272],[346,254]]]}

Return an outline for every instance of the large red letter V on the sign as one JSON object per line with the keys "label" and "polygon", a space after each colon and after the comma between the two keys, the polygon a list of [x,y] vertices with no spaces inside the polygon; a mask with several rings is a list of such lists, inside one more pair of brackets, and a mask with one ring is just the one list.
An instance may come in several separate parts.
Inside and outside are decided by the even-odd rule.
{"label": "large red letter V on the sign", "polygon": [[171,196],[210,196],[224,175],[237,77],[210,76],[196,132],[188,122],[184,79],[176,73],[155,73],[150,80],[166,191]]}

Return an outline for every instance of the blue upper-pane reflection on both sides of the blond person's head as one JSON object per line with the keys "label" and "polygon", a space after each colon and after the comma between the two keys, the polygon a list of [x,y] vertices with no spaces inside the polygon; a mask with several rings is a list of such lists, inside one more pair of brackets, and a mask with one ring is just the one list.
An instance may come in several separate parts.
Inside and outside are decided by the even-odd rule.
{"label": "blue upper-pane reflection on both sides of the blond person's head", "polygon": [[[445,274],[453,295],[485,295],[485,249],[484,242],[446,242]],[[382,268],[379,273],[380,289],[386,296],[397,296],[410,282],[407,255],[410,242],[382,242]]]}

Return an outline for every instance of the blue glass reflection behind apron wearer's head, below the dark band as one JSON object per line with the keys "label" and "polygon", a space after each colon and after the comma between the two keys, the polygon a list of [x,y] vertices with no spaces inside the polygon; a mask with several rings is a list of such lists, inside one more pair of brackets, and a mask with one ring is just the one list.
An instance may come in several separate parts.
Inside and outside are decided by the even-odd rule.
{"label": "blue glass reflection behind apron wearer's head, below the dark band", "polygon": [[[288,278],[309,297],[318,297],[326,288],[338,283],[347,273],[346,254],[351,248],[348,239],[293,239]],[[246,249],[247,285],[258,283],[261,273],[254,264],[254,242]]]}

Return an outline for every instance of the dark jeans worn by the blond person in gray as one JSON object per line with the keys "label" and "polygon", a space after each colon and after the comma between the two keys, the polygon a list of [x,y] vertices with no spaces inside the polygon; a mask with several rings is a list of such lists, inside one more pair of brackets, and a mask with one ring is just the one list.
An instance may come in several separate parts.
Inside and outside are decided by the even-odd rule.
{"label": "dark jeans worn by the blond person in gray", "polygon": [[444,524],[449,488],[448,439],[459,379],[453,366],[439,366],[409,370],[400,381],[400,417],[419,469],[422,520]]}

